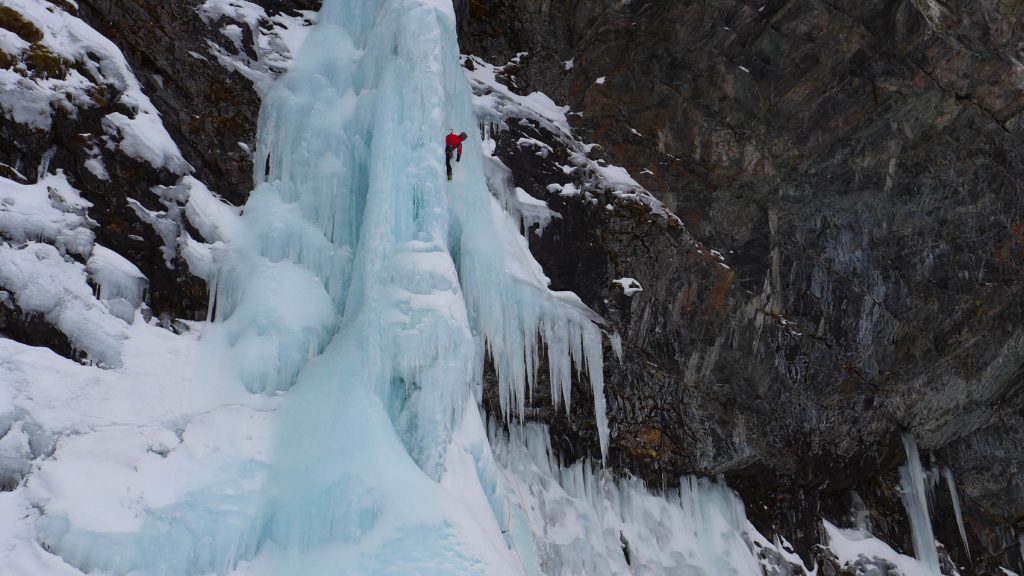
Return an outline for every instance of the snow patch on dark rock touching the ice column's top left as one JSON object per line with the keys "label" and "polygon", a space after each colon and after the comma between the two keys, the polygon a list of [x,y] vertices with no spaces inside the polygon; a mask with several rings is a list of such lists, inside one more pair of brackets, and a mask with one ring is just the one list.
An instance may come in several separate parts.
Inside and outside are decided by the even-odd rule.
{"label": "snow patch on dark rock touching the ice column's top left", "polygon": [[[248,78],[261,95],[274,78],[288,70],[316,22],[316,13],[312,11],[269,15],[262,6],[246,0],[207,0],[198,10],[209,25],[233,23],[220,28],[233,45],[233,53],[213,41],[207,41],[207,46],[221,66]],[[254,39],[251,48],[255,57],[247,50],[240,26]]]}

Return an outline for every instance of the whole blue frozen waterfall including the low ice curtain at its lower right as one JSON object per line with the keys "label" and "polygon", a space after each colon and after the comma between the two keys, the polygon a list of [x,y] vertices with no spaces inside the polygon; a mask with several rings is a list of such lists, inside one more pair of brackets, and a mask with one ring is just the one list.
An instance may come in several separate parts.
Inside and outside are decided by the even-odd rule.
{"label": "whole blue frozen waterfall including the low ice curtain at its lower right", "polygon": [[[728,489],[563,466],[522,423],[544,359],[566,410],[589,381],[606,453],[602,321],[549,290],[476,125],[450,0],[326,0],[265,94],[257,186],[214,254],[197,379],[238,408],[202,430],[230,442],[182,424],[161,442],[184,448],[143,449],[194,478],[119,530],[47,513],[47,548],[145,576],[758,573],[770,544]],[[449,128],[471,134],[452,182]],[[490,440],[486,362],[510,423]]]}

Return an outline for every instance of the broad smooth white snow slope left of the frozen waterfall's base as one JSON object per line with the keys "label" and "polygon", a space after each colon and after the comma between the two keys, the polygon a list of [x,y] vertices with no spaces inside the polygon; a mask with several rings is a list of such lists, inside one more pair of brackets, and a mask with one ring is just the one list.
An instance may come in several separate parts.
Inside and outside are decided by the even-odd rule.
{"label": "broad smooth white snow slope left of the frozen waterfall's base", "polygon": [[[248,513],[241,504],[268,457],[276,399],[214,385],[194,328],[125,326],[114,370],[0,339],[0,430],[8,423],[30,448],[0,442],[0,462],[20,458],[31,472],[0,493],[0,572],[195,573],[174,542],[211,518],[227,530]],[[234,496],[190,500],[211,486]],[[147,529],[163,537],[132,537]]]}

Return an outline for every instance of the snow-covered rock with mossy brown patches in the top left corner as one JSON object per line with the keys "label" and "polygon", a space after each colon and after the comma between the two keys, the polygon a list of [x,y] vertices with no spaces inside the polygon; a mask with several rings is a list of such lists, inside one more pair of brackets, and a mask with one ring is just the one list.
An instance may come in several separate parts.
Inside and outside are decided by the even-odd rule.
{"label": "snow-covered rock with mossy brown patches in the top left corner", "polygon": [[22,14],[42,35],[41,40],[30,46],[13,42],[5,35],[6,46],[19,47],[13,55],[34,51],[47,54],[54,63],[62,61],[45,73],[31,72],[24,64],[0,70],[0,108],[8,118],[39,130],[49,130],[52,109],[59,108],[75,115],[77,109],[92,108],[96,105],[90,92],[104,87],[117,95],[118,104],[128,112],[114,112],[103,118],[104,131],[114,146],[155,168],[175,174],[191,171],[164,128],[157,109],[142,93],[141,85],[113,42],[49,2],[4,0],[3,4]]}

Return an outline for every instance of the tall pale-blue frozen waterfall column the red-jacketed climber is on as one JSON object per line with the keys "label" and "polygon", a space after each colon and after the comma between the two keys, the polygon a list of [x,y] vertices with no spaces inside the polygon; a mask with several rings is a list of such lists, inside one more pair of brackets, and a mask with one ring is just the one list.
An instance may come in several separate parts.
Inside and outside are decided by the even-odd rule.
{"label": "tall pale-blue frozen waterfall column the red-jacketed climber is on", "polygon": [[517,567],[438,484],[463,403],[479,418],[485,355],[518,414],[540,336],[555,398],[573,365],[589,373],[606,444],[599,319],[548,290],[487,192],[479,137],[445,180],[441,138],[475,124],[445,2],[326,2],[266,95],[215,315],[240,383],[291,388],[257,541],[272,573]]}

